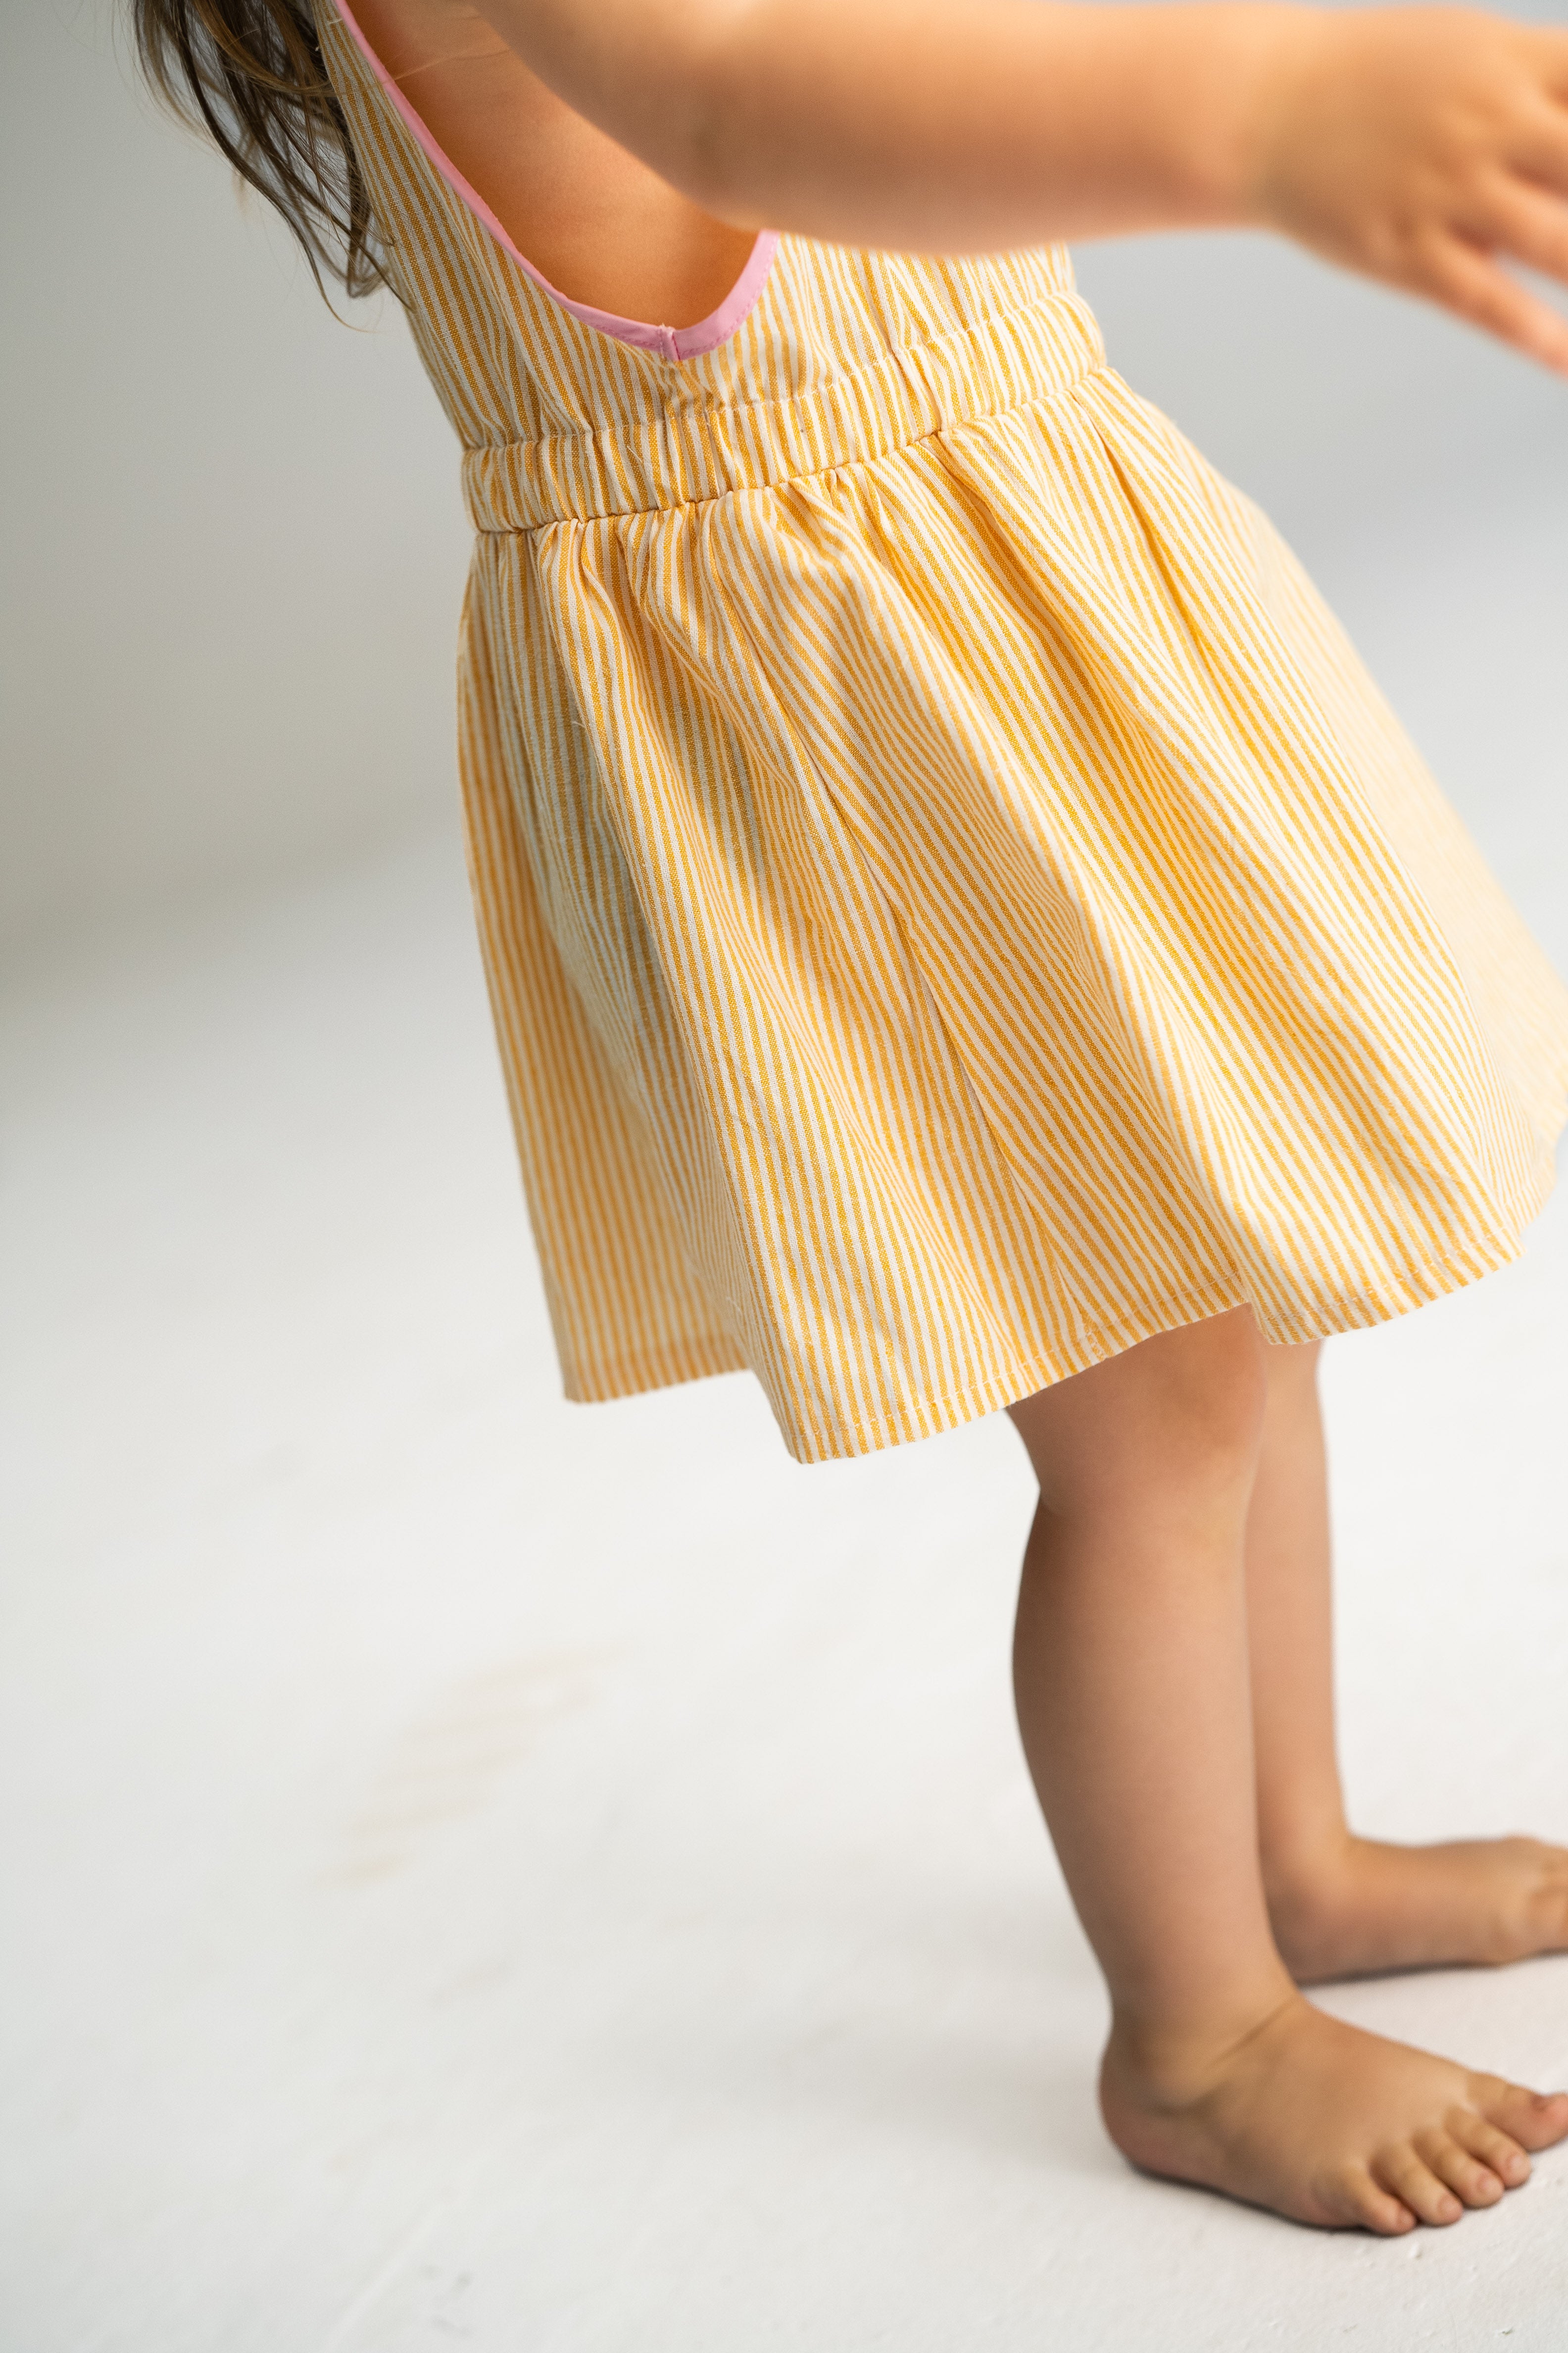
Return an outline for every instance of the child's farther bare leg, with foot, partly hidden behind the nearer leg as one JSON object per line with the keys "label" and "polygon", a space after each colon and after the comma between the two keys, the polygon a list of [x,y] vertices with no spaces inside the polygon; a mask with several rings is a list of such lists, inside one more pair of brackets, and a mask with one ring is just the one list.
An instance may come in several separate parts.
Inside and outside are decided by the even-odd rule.
{"label": "child's farther bare leg, with foot, partly hidden behind the nearer leg", "polygon": [[1333,1744],[1321,1341],[1267,1348],[1246,1522],[1258,1838],[1298,1979],[1568,1948],[1568,1852],[1535,1838],[1389,1847],[1352,1838]]}

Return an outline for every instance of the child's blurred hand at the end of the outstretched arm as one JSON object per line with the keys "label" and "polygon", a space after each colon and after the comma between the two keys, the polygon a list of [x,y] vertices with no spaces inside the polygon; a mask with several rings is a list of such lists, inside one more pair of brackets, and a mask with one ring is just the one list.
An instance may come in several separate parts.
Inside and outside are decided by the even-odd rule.
{"label": "child's blurred hand at the end of the outstretched arm", "polygon": [[1568,320],[1502,266],[1568,282],[1568,31],[1291,12],[1258,132],[1260,226],[1568,374]]}

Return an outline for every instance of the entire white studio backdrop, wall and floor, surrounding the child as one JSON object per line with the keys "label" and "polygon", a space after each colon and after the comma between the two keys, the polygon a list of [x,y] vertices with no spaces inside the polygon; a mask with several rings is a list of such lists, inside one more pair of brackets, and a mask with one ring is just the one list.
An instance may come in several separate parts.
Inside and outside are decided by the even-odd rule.
{"label": "entire white studio backdrop, wall and floor, surrounding the child", "polygon": [[[745,1379],[562,1405],[449,433],[101,5],[0,82],[0,2346],[1561,2353],[1568,2151],[1373,2247],[1105,2144],[1001,1417],[806,1473]],[[1265,240],[1081,275],[1568,967],[1568,386]],[[1566,1322],[1559,1195],[1331,1351],[1366,1831],[1568,1838]],[[1331,2000],[1568,2075],[1568,1960]]]}

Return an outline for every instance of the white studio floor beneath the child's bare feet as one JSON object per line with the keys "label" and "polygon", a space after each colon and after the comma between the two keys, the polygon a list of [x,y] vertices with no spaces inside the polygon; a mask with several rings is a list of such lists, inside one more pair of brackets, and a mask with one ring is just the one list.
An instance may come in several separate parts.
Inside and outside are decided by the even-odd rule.
{"label": "white studio floor beneath the child's bare feet", "polygon": [[[449,840],[7,1066],[5,2353],[1561,2353],[1568,2155],[1375,2245],[1103,2141],[1004,1421],[557,1400]],[[1366,1828],[1568,1838],[1566,1332],[1559,1202],[1331,1351]],[[1568,1960],[1333,2007],[1568,2080]]]}

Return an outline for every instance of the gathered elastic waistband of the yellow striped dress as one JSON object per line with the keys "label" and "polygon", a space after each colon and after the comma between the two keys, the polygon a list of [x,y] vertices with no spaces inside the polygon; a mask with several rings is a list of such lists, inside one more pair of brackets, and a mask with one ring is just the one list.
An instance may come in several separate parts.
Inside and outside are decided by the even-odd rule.
{"label": "gathered elastic waistband of the yellow striped dress", "polygon": [[788,400],[670,409],[597,433],[468,449],[463,496],[477,532],[691,506],[886,456],[926,433],[1060,393],[1103,365],[1093,311],[1077,294],[1051,294],[1027,311],[893,346]]}

